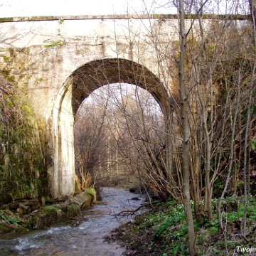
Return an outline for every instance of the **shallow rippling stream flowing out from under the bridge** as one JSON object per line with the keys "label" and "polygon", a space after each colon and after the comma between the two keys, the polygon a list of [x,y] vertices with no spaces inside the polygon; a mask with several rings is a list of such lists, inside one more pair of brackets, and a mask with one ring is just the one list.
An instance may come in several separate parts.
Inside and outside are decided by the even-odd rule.
{"label": "shallow rippling stream flowing out from under the bridge", "polygon": [[[77,226],[64,223],[48,229],[0,238],[0,255],[124,255],[125,248],[116,243],[105,242],[105,236],[131,219],[131,216],[117,217],[114,213],[138,208],[142,197],[122,188],[102,188],[101,197],[102,204],[83,211]],[[132,199],[134,197],[139,200]]]}

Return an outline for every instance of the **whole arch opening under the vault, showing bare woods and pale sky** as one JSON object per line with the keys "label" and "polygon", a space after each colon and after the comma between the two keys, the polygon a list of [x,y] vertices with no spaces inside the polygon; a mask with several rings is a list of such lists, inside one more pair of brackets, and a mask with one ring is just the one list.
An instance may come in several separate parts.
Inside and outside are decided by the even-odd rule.
{"label": "whole arch opening under the vault, showing bare woods and pale sky", "polygon": [[92,92],[74,124],[75,174],[82,189],[150,183],[145,174],[153,159],[163,164],[157,157],[164,153],[164,125],[159,104],[141,87],[119,83]]}

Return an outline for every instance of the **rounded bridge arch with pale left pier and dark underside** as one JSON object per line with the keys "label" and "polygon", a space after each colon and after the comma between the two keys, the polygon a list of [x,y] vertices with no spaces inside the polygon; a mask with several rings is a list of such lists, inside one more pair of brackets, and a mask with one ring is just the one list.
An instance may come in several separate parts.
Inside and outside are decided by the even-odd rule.
{"label": "rounded bridge arch with pale left pier and dark underside", "polygon": [[[151,93],[164,113],[166,129],[171,124],[169,92],[161,80],[144,65],[121,58],[85,63],[70,74],[55,97],[53,107],[53,199],[71,196],[75,190],[74,117],[83,100],[103,85],[129,83]],[[167,139],[169,141],[169,139]],[[166,142],[171,152],[171,144]],[[170,153],[171,154],[171,153]],[[169,169],[171,156],[168,157]]]}

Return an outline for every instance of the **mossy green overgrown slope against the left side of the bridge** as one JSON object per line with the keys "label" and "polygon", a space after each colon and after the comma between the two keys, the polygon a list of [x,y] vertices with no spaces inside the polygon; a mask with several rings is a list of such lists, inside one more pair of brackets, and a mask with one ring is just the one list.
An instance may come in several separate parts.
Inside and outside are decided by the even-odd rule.
{"label": "mossy green overgrown slope against the left side of the bridge", "polygon": [[1,206],[17,198],[47,196],[48,176],[33,110],[2,76],[0,85]]}

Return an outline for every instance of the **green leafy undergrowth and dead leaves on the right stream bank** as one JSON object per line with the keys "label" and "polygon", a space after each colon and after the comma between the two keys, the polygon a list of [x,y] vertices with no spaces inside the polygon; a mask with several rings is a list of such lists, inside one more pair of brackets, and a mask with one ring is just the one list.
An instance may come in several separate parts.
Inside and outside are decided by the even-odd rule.
{"label": "green leafy undergrowth and dead leaves on the right stream bank", "polygon": [[[215,203],[215,202],[214,202]],[[230,208],[235,203],[237,208]],[[193,207],[193,202],[191,203]],[[194,218],[198,255],[246,255],[237,252],[238,246],[255,247],[256,202],[251,198],[247,208],[247,240],[240,235],[244,212],[242,198],[226,198],[223,204],[223,229],[214,210],[214,220],[209,223]],[[183,205],[176,201],[159,203],[156,211],[135,218],[117,232],[127,245],[127,255],[188,255],[186,216]],[[119,235],[118,234],[122,234]],[[248,254],[249,255],[249,254]]]}

